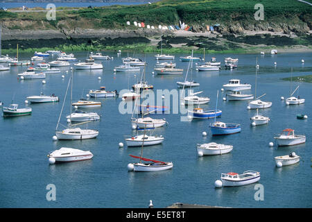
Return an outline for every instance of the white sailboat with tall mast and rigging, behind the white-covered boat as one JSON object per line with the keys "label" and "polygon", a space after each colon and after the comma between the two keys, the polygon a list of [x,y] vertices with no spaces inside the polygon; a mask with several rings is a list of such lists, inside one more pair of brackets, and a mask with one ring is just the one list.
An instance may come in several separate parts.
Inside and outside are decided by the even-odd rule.
{"label": "white sailboat with tall mast and rigging, behind the white-covered boat", "polygon": [[[71,82],[71,101],[72,101],[72,92],[73,92],[73,69],[71,69],[71,78],[69,78],[69,83]],[[65,94],[65,97],[67,96],[67,92],[69,89],[69,83],[67,85],[67,91]],[[66,99],[64,99],[65,102]],[[64,102],[62,105],[62,110],[60,112],[60,117],[62,115],[62,111],[64,108]],[[71,110],[71,107],[70,107]],[[87,122],[83,122],[83,123],[77,123],[77,124],[71,124],[71,114],[70,114],[70,127],[69,128],[65,128],[64,130],[58,130],[58,125],[60,124],[60,117],[58,118],[58,124],[56,126],[56,130],[55,130],[55,135],[58,139],[92,139],[92,138],[96,138],[98,136],[98,130],[88,130],[88,129],[81,129],[81,128],[73,128],[73,126],[77,126],[78,124],[83,124],[83,123],[87,123]]]}

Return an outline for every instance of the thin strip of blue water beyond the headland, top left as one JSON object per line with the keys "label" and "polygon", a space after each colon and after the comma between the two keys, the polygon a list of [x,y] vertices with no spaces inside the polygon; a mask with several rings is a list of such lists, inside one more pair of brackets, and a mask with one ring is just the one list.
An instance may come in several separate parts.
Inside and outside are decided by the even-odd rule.
{"label": "thin strip of blue water beyond the headland, top left", "polygon": [[[114,5],[121,5],[121,6],[132,6],[132,5],[140,5],[148,3],[148,1],[144,2],[55,2],[56,7],[88,7],[88,6],[94,6],[94,7],[103,7],[103,6],[114,6]],[[48,3],[31,3],[31,2],[1,2],[0,7],[4,8],[19,8],[26,6],[28,8],[35,8],[35,7],[41,7],[46,8]]]}

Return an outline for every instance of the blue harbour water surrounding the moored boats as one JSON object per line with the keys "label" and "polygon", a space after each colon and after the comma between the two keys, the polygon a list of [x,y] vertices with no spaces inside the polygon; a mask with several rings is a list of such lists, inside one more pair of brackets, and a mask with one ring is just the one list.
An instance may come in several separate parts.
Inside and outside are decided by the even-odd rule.
{"label": "blue harbour water surrounding the moored boats", "polygon": [[[69,52],[68,52],[69,53]],[[79,60],[85,60],[87,52],[73,52]],[[73,101],[85,97],[89,89],[106,86],[108,90],[128,89],[135,82],[135,74],[114,74],[114,66],[121,64],[116,53],[114,60],[104,61],[103,71],[75,71],[73,80]],[[12,55],[13,56],[13,55]],[[31,54],[21,54],[21,59],[31,58]],[[132,53],[131,53],[132,56]],[[176,81],[184,80],[187,62],[180,62],[175,55],[177,67],[184,68],[182,76],[153,76],[155,65],[153,54],[136,54],[148,62],[146,79],[155,89],[177,89]],[[186,55],[183,55],[186,56]],[[197,55],[200,56],[200,55]],[[97,99],[103,102],[96,111],[101,121],[88,123],[88,128],[98,129],[96,139],[83,141],[53,142],[69,74],[62,68],[62,74],[47,74],[46,84],[42,80],[17,80],[17,73],[26,67],[12,67],[0,72],[0,101],[6,105],[12,102],[24,107],[26,96],[54,93],[60,96],[60,103],[28,104],[33,108],[31,116],[0,118],[1,158],[0,158],[0,207],[148,207],[153,200],[155,207],[166,207],[172,203],[196,203],[224,207],[312,207],[311,185],[311,83],[301,83],[300,96],[306,99],[303,105],[285,105],[280,97],[289,95],[291,83],[280,78],[311,74],[311,53],[280,53],[275,56],[259,55],[206,55],[218,61],[225,57],[239,58],[239,68],[220,72],[193,71],[193,79],[200,83],[196,90],[211,99],[202,108],[214,109],[216,92],[230,78],[239,78],[243,83],[251,83],[254,93],[256,57],[259,62],[257,95],[266,93],[264,101],[272,101],[272,107],[260,110],[272,121],[266,126],[250,126],[250,117],[256,111],[247,110],[248,101],[222,101],[220,92],[218,109],[223,110],[220,121],[241,123],[242,131],[235,135],[211,137],[211,120],[180,121],[180,114],[157,114],[166,118],[168,126],[157,128],[155,134],[163,135],[163,144],[144,148],[144,157],[171,161],[172,170],[154,173],[128,172],[127,164],[135,162],[129,155],[139,155],[140,148],[119,148],[125,135],[134,135],[130,124],[131,114],[120,114],[121,99]],[[302,65],[302,58],[305,60]],[[52,60],[52,58],[49,58]],[[274,67],[273,62],[277,62]],[[65,78],[62,79],[61,75]],[[191,73],[189,73],[191,76]],[[101,76],[101,80],[98,80]],[[139,74],[137,74],[139,76]],[[297,83],[293,83],[293,89]],[[67,99],[68,101],[68,99]],[[308,119],[296,119],[296,114],[307,114]],[[65,104],[61,122],[66,123],[69,101]],[[155,115],[154,115],[155,117]],[[299,146],[269,147],[275,142],[273,137],[284,128],[293,128],[296,133],[306,135],[306,143]],[[202,132],[208,133],[202,137]],[[196,144],[217,142],[232,144],[234,149],[225,155],[198,157]],[[49,165],[46,155],[61,147],[90,150],[94,158],[84,162]],[[295,151],[301,156],[300,163],[275,167],[274,157]],[[254,184],[244,187],[215,189],[214,182],[220,173],[246,170],[261,173],[259,183],[264,187],[264,200],[254,200]],[[56,187],[56,200],[46,200],[46,185]]]}

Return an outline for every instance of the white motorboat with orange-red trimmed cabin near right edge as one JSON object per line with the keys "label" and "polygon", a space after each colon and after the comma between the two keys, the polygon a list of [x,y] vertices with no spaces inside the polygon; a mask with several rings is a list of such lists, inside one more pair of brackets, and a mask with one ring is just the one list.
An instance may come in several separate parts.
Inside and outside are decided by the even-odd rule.
{"label": "white motorboat with orange-red trimmed cabin near right edge", "polygon": [[278,146],[293,146],[304,144],[306,142],[305,135],[295,135],[295,130],[285,129],[281,134],[274,137],[277,140]]}

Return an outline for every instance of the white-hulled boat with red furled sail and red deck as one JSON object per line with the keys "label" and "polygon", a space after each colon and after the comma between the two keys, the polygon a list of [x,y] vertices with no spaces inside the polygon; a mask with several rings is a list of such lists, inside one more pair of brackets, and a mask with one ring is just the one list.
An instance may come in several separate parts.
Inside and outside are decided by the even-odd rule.
{"label": "white-hulled boat with red furled sail and red deck", "polygon": [[[140,162],[128,164],[129,171],[151,172],[164,171],[173,168],[172,162],[162,162],[159,160],[152,160],[145,157],[137,157],[135,155],[130,155],[130,157],[138,158],[140,159]],[[146,163],[142,163],[141,160],[146,161]]]}

